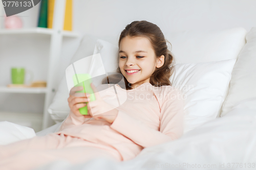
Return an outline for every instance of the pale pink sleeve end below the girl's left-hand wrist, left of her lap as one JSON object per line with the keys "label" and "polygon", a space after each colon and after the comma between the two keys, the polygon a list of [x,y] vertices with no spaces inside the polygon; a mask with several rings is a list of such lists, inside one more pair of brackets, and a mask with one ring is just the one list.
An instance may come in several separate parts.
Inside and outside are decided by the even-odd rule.
{"label": "pale pink sleeve end below the girl's left-hand wrist, left of her lap", "polygon": [[84,118],[83,116],[77,117],[74,114],[71,114],[71,111],[70,111],[68,117],[61,124],[59,131],[62,131],[63,129],[71,128],[73,126],[82,125],[84,122],[86,122],[89,119],[90,118]]}

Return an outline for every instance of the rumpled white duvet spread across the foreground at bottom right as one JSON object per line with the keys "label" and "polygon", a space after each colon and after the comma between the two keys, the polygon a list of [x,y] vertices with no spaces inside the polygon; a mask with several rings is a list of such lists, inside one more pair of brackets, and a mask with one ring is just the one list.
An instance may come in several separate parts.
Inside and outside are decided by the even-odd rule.
{"label": "rumpled white duvet spread across the foreground at bottom right", "polygon": [[[1,126],[3,123],[5,127]],[[7,130],[8,126],[13,124],[0,123],[0,143],[5,140],[3,134],[8,134],[2,128]],[[11,131],[14,134],[14,128]],[[20,139],[35,136],[30,128],[18,133],[26,134],[20,134]],[[10,142],[17,140],[10,136]],[[256,110],[237,107],[177,140],[145,148],[129,161],[94,159],[76,165],[56,161],[37,168],[40,169],[256,169]]]}

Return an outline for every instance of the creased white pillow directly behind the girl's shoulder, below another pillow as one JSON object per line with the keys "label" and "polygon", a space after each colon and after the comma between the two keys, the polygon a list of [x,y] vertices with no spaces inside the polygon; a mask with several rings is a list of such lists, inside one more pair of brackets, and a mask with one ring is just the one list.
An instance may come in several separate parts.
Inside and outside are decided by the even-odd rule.
{"label": "creased white pillow directly behind the girl's shoulder, below another pillow", "polygon": [[184,133],[215,119],[225,100],[236,59],[176,64],[170,77],[184,95]]}

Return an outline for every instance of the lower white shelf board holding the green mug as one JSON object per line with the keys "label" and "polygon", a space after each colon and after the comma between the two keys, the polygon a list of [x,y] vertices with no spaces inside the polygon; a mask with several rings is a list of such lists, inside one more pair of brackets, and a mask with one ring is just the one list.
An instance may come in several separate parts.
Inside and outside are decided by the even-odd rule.
{"label": "lower white shelf board holding the green mug", "polygon": [[46,93],[47,87],[31,87],[31,88],[23,88],[23,87],[5,87],[0,86],[0,92],[6,93]]}

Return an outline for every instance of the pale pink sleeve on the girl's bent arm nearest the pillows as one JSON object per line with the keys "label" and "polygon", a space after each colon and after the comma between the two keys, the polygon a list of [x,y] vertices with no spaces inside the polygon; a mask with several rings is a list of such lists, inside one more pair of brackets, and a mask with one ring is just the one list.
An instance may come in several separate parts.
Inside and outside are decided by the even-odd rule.
{"label": "pale pink sleeve on the girl's bent arm nearest the pillows", "polygon": [[[178,91],[168,92],[170,93],[179,94]],[[182,136],[183,114],[183,100],[179,100],[178,97],[176,99],[166,97],[161,107],[160,131],[151,129],[140,120],[120,110],[110,127],[146,148]]]}

